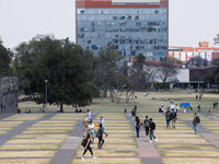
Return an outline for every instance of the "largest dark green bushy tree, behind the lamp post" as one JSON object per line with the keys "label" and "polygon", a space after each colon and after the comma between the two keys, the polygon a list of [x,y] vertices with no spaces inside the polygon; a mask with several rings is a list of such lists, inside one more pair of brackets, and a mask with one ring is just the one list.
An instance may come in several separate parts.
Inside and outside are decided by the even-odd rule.
{"label": "largest dark green bushy tree, behind the lamp post", "polygon": [[92,86],[88,84],[88,69],[84,66],[84,51],[81,46],[68,38],[55,39],[51,36],[36,36],[30,43],[16,47],[18,74],[28,84],[32,95],[37,91],[36,103],[45,103],[45,80],[48,81],[49,104],[81,106],[92,98]]}

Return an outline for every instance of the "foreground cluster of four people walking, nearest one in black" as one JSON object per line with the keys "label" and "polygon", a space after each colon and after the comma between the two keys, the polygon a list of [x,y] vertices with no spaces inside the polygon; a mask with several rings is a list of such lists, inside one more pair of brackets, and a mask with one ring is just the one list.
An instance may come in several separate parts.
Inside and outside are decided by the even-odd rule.
{"label": "foreground cluster of four people walking, nearest one in black", "polygon": [[[87,134],[85,139],[84,139],[84,142],[85,144],[83,145],[84,147],[84,152],[82,154],[82,157],[81,160],[84,160],[84,155],[87,153],[87,151],[89,150],[92,157],[93,159],[96,159],[96,156],[93,155],[93,151],[92,151],[92,148],[91,148],[91,144],[94,143],[94,139],[95,139],[95,125],[93,124],[92,121],[92,118],[91,118],[91,112],[88,109],[88,115],[87,115],[87,118],[85,118],[85,122],[89,124],[88,125],[88,134],[87,134],[87,128],[84,128],[84,134]],[[101,116],[101,121],[99,122],[99,130],[96,132],[96,138],[99,139],[99,144],[97,144],[97,148],[99,149],[102,149],[103,147],[103,143],[104,143],[104,137],[103,134],[105,134],[106,137],[108,136],[104,129],[105,129],[105,124],[104,124],[104,119],[103,119],[103,116]],[[85,124],[84,122],[84,124]]]}

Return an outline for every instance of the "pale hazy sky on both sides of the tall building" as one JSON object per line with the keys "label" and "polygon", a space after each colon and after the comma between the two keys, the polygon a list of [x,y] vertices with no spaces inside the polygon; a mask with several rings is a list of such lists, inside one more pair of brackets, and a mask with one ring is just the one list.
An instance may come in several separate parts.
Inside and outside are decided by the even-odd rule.
{"label": "pale hazy sky on both sides of the tall building", "polygon": [[[170,46],[197,47],[219,34],[219,0],[170,0]],[[0,0],[0,37],[8,48],[36,34],[74,42],[74,0]]]}

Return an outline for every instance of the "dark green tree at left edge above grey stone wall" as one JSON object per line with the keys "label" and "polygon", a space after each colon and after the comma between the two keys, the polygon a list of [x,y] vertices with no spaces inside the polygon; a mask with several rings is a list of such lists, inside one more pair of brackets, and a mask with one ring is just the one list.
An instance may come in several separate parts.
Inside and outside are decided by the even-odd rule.
{"label": "dark green tree at left edge above grey stone wall", "polygon": [[13,75],[13,69],[10,67],[12,58],[13,52],[3,46],[0,38],[0,77]]}

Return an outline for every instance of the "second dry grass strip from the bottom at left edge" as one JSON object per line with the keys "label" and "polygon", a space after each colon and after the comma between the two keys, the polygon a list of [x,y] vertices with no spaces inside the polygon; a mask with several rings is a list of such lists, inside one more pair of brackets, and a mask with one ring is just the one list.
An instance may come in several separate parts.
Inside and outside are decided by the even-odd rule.
{"label": "second dry grass strip from the bottom at left edge", "polygon": [[51,157],[56,151],[0,151],[0,157]]}

